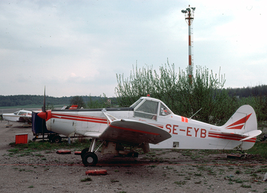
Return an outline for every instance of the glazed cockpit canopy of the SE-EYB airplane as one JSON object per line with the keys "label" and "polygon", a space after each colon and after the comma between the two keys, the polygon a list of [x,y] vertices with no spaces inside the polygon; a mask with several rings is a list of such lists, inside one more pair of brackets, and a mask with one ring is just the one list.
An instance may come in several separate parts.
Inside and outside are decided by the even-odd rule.
{"label": "glazed cockpit canopy of the SE-EYB airplane", "polygon": [[171,110],[160,100],[141,97],[131,107],[134,108],[134,117],[157,120],[158,116],[172,114]]}

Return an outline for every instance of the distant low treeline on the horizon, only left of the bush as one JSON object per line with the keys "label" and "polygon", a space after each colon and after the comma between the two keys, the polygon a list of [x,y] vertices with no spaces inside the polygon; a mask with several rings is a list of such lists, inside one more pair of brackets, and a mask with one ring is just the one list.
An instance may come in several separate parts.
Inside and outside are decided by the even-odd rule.
{"label": "distant low treeline on the horizon, only left of the bush", "polygon": [[[47,105],[69,105],[70,97],[51,97],[46,96]],[[89,101],[98,101],[101,96],[82,96],[84,103]],[[0,95],[0,106],[24,106],[24,105],[43,105],[43,95]]]}

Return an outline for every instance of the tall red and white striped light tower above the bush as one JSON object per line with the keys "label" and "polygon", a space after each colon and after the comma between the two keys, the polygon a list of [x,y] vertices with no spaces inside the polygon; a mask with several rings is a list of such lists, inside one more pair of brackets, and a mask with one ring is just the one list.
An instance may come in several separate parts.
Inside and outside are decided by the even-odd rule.
{"label": "tall red and white striped light tower above the bush", "polygon": [[192,81],[192,43],[193,43],[193,38],[191,38],[191,24],[194,20],[194,11],[196,7],[189,7],[186,10],[182,10],[182,13],[185,15],[185,21],[188,24],[188,76],[190,82]]}

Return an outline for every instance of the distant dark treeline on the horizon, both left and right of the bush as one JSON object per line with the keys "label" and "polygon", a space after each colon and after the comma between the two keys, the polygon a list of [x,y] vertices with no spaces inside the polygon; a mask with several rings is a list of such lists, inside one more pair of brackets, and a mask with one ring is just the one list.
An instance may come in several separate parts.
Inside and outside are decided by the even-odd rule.
{"label": "distant dark treeline on the horizon, both left and right of the bush", "polygon": [[[226,88],[230,96],[249,97],[249,96],[267,96],[267,85],[260,85],[255,87],[247,88]],[[82,96],[83,102],[86,104],[90,101],[98,101],[105,97],[101,96]],[[46,96],[47,105],[69,105],[70,97],[51,97]],[[116,101],[115,98],[112,99],[112,103]],[[43,105],[44,96],[43,95],[0,95],[0,106],[24,106],[24,105]]]}

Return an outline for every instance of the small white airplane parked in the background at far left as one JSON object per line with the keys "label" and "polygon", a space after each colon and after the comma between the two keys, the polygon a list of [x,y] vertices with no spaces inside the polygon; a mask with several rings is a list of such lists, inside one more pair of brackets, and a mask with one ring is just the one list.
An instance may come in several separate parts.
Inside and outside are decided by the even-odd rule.
{"label": "small white airplane parked in the background at far left", "polygon": [[5,124],[6,127],[13,125],[9,122],[23,122],[24,124],[22,126],[31,126],[29,123],[32,122],[32,111],[18,110],[15,113],[4,113],[1,117],[3,120],[8,121],[8,123]]}

